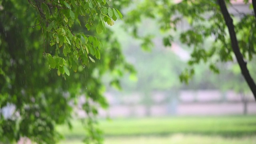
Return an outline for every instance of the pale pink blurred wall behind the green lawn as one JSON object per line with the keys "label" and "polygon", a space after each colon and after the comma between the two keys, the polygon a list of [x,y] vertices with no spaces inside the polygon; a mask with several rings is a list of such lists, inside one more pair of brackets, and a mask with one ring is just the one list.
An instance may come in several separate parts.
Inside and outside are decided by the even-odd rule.
{"label": "pale pink blurred wall behind the green lawn", "polygon": [[[238,115],[243,114],[244,104],[242,97],[233,91],[224,94],[218,90],[183,90],[178,98],[164,101],[166,95],[161,92],[154,92],[152,100],[154,104],[150,107],[151,116],[185,116],[185,115]],[[136,97],[141,97],[138,93]],[[130,99],[129,99],[130,98]],[[246,97],[247,114],[256,114],[256,102],[252,95]],[[140,98],[131,96],[114,96],[107,94],[110,107],[107,110],[100,110],[100,117],[110,116],[112,118],[144,117],[146,106],[139,101]],[[119,99],[120,104],[112,102]],[[127,101],[127,99],[129,99]],[[134,102],[131,100],[134,99]]]}

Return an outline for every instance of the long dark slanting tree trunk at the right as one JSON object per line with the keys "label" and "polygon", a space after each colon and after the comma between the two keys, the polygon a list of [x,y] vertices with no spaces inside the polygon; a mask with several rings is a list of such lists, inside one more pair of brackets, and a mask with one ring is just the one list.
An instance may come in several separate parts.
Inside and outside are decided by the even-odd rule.
{"label": "long dark slanting tree trunk at the right", "polygon": [[238,64],[242,71],[242,74],[243,74],[247,84],[249,85],[249,87],[254,95],[254,98],[256,100],[256,84],[254,83],[254,80],[252,79],[252,77],[248,71],[246,62],[244,61],[244,58],[243,58],[243,55],[240,52],[240,49],[238,46],[238,41],[236,38],[236,32],[234,30],[233,20],[232,20],[230,14],[228,13],[228,9],[226,7],[226,3],[224,2],[224,0],[218,0],[218,4],[220,6],[220,10],[224,17],[226,25],[228,26],[228,32],[229,32],[230,39],[231,39],[231,45],[232,45],[233,52],[236,55],[236,60],[238,61]]}

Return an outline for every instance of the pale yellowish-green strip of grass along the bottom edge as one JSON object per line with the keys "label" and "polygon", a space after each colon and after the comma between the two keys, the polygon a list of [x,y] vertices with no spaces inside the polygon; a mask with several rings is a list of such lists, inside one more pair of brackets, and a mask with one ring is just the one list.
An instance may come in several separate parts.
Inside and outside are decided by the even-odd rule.
{"label": "pale yellowish-green strip of grass along the bottom edge", "polygon": [[[66,139],[60,144],[83,144],[80,139]],[[256,136],[227,138],[194,134],[172,134],[168,136],[118,136],[106,137],[104,144],[256,144]]]}

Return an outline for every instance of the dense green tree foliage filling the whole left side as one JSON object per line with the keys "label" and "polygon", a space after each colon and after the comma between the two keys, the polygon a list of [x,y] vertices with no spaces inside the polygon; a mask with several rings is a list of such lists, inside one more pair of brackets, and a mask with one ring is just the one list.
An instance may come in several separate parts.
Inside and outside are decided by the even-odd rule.
{"label": "dense green tree foliage filling the whole left side", "polygon": [[[113,5],[109,0],[0,0],[1,142],[21,137],[57,142],[61,135],[55,126],[72,127],[81,95],[86,97],[84,141],[102,141],[95,127],[98,107],[108,106],[102,76],[134,72],[105,27],[122,19]],[[4,114],[8,106],[15,109],[10,115]]]}

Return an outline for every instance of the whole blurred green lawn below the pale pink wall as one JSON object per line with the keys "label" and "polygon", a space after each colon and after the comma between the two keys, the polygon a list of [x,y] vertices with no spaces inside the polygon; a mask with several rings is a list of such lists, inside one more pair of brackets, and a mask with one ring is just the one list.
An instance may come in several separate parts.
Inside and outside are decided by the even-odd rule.
{"label": "whole blurred green lawn below the pale pink wall", "polygon": [[[74,121],[73,126],[71,131],[65,126],[57,129],[66,137],[66,143],[79,143],[84,135],[80,122]],[[106,144],[256,143],[256,116],[130,118],[100,120],[99,126]]]}

